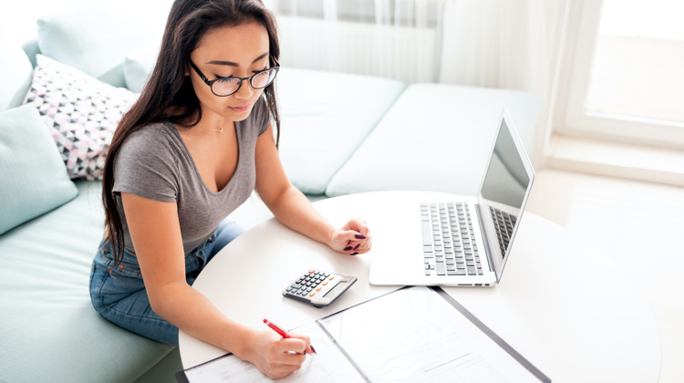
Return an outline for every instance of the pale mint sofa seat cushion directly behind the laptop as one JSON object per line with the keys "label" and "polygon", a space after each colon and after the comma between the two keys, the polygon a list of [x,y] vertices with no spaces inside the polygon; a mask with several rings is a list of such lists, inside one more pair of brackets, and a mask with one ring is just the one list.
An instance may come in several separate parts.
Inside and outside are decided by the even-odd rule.
{"label": "pale mint sofa seat cushion directly behind the laptop", "polygon": [[409,86],[326,189],[417,190],[474,195],[503,107],[527,153],[541,99],[532,93],[442,84]]}

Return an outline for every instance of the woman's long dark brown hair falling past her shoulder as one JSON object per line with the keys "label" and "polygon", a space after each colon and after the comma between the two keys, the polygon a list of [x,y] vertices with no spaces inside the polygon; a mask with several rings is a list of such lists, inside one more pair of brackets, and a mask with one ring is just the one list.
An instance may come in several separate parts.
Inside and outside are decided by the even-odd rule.
{"label": "woman's long dark brown hair falling past her shoulder", "polygon": [[[200,101],[192,88],[185,69],[190,54],[202,36],[222,26],[242,26],[256,22],[268,32],[269,53],[280,57],[275,17],[260,0],[176,0],[166,22],[157,64],[140,98],[119,121],[119,127],[109,145],[102,182],[102,203],[105,207],[105,230],[109,231],[103,245],[111,245],[114,266],[121,262],[124,249],[123,224],[119,205],[112,194],[114,163],[121,144],[131,133],[153,122],[171,122],[181,128],[192,128],[202,119]],[[272,63],[273,65],[273,63]],[[275,101],[275,84],[264,89],[266,104],[275,119],[276,147],[280,141],[280,118]]]}

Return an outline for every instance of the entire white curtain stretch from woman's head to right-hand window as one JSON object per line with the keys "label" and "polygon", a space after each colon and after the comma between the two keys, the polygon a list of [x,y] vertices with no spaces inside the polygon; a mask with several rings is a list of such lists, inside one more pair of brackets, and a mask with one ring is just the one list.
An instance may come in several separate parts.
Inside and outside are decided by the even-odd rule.
{"label": "entire white curtain stretch from woman's head to right-hand window", "polygon": [[265,0],[285,66],[533,92],[541,165],[571,0]]}

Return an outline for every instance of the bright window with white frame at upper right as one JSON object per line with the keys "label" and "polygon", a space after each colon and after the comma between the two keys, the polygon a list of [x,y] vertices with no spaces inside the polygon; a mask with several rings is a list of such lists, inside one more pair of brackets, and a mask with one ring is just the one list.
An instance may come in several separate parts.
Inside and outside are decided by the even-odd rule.
{"label": "bright window with white frame at upper right", "polygon": [[565,121],[556,130],[684,147],[684,3],[581,5]]}

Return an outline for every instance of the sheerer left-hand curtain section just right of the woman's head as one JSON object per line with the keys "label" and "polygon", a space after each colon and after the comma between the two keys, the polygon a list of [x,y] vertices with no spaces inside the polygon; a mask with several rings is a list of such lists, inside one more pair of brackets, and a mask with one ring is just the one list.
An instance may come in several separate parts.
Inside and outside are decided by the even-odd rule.
{"label": "sheerer left-hand curtain section just right of the woman's head", "polygon": [[441,0],[269,0],[284,66],[435,82]]}

